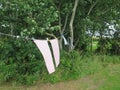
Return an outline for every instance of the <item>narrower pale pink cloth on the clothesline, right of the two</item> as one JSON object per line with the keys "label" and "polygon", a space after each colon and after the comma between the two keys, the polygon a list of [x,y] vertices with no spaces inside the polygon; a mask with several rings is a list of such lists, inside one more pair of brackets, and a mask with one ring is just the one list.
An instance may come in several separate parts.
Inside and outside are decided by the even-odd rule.
{"label": "narrower pale pink cloth on the clothesline, right of the two", "polygon": [[58,39],[56,38],[56,39],[50,40],[50,43],[52,46],[55,65],[56,67],[58,67],[58,65],[60,64],[60,49],[59,49]]}

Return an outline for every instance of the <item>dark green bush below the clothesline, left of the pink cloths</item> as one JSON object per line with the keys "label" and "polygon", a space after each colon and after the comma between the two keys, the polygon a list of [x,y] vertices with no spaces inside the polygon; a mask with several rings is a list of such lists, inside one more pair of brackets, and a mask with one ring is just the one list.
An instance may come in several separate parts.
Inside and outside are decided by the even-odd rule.
{"label": "dark green bush below the clothesline, left of the pink cloths", "polygon": [[0,46],[0,79],[18,84],[34,84],[45,69],[35,45],[27,40],[6,38]]}

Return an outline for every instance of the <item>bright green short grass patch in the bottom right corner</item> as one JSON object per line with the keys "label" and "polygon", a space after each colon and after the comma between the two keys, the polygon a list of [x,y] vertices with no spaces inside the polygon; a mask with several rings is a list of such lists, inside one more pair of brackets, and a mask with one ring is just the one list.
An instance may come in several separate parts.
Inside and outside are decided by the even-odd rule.
{"label": "bright green short grass patch in the bottom right corner", "polygon": [[109,65],[102,71],[102,75],[106,79],[99,90],[120,90],[120,65]]}

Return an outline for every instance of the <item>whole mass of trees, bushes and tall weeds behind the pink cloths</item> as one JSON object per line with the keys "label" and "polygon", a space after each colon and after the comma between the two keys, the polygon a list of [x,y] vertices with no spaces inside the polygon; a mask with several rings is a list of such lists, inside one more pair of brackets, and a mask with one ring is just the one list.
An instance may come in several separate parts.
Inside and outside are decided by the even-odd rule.
{"label": "whole mass of trees, bushes and tall weeds behind the pink cloths", "polygon": [[[97,72],[103,68],[99,59],[93,60],[98,57],[100,61],[119,62],[119,57],[110,60],[104,55],[120,55],[120,1],[77,1],[0,0],[0,32],[23,37],[0,34],[1,82],[31,85],[40,78],[54,83]],[[96,33],[99,36],[94,38]],[[63,44],[62,35],[69,45]],[[60,39],[61,64],[54,74],[48,75],[43,57],[25,37]],[[99,56],[89,59],[93,54]]]}

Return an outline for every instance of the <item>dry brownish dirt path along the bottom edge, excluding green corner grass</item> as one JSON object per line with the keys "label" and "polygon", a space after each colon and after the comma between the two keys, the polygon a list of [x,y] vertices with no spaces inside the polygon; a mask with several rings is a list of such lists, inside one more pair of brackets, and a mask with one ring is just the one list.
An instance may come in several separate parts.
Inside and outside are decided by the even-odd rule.
{"label": "dry brownish dirt path along the bottom edge, excluding green corner grass", "polygon": [[[99,75],[99,73],[98,73]],[[0,90],[97,90],[104,82],[105,79],[100,77],[95,80],[98,75],[91,75],[79,80],[72,80],[66,82],[59,82],[56,84],[38,83],[35,86],[13,86],[13,85],[0,85]]]}

